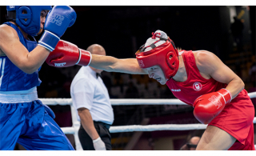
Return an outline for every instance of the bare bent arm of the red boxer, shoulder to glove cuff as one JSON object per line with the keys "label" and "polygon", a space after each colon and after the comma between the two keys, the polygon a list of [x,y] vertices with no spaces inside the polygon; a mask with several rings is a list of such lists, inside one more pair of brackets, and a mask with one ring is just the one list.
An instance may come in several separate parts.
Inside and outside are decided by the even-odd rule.
{"label": "bare bent arm of the red boxer, shoulder to glove cuff", "polygon": [[218,82],[226,83],[226,90],[235,98],[243,89],[244,82],[234,74],[228,66],[226,66],[215,54],[208,51],[198,51],[195,54],[198,70],[203,74],[209,74]]}

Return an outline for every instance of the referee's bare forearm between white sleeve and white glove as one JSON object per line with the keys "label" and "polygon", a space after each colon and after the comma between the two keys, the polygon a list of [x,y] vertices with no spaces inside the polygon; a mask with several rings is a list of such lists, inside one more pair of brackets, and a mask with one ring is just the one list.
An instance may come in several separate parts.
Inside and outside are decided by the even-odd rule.
{"label": "referee's bare forearm between white sleeve and white glove", "polygon": [[86,130],[92,140],[99,137],[97,130],[95,129],[93,118],[90,111],[84,107],[78,108],[78,115],[81,119],[82,127]]}

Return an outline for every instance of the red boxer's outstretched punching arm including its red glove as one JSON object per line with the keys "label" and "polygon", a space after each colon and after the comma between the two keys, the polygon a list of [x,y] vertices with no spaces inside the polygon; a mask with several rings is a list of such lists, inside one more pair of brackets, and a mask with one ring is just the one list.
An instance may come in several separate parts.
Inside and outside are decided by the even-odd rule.
{"label": "red boxer's outstretched punching arm including its red glove", "polygon": [[67,67],[67,66],[91,66],[96,69],[109,72],[120,72],[127,74],[147,74],[138,66],[136,58],[118,59],[111,56],[90,54],[90,51],[82,50],[73,43],[60,40],[46,59],[49,66]]}

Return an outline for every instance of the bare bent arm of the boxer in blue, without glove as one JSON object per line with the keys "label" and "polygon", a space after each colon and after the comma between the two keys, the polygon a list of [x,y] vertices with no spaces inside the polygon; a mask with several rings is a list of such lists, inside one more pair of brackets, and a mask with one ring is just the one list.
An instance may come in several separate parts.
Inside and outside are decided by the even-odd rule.
{"label": "bare bent arm of the boxer in blue, without glove", "polygon": [[37,46],[30,53],[19,41],[17,32],[10,26],[0,26],[0,49],[15,66],[27,74],[38,70],[46,60],[50,51]]}

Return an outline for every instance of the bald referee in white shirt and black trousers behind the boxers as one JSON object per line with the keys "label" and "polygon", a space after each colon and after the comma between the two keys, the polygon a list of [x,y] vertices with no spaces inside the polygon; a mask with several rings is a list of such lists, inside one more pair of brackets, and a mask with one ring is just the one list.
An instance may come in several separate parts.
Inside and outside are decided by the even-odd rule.
{"label": "bald referee in white shirt and black trousers behind the boxers", "polygon": [[[98,44],[89,46],[87,50],[91,54],[106,55]],[[81,121],[78,137],[83,150],[111,150],[109,129],[114,122],[114,113],[106,86],[99,77],[101,72],[82,66],[70,87],[73,106],[78,110],[78,121]]]}

